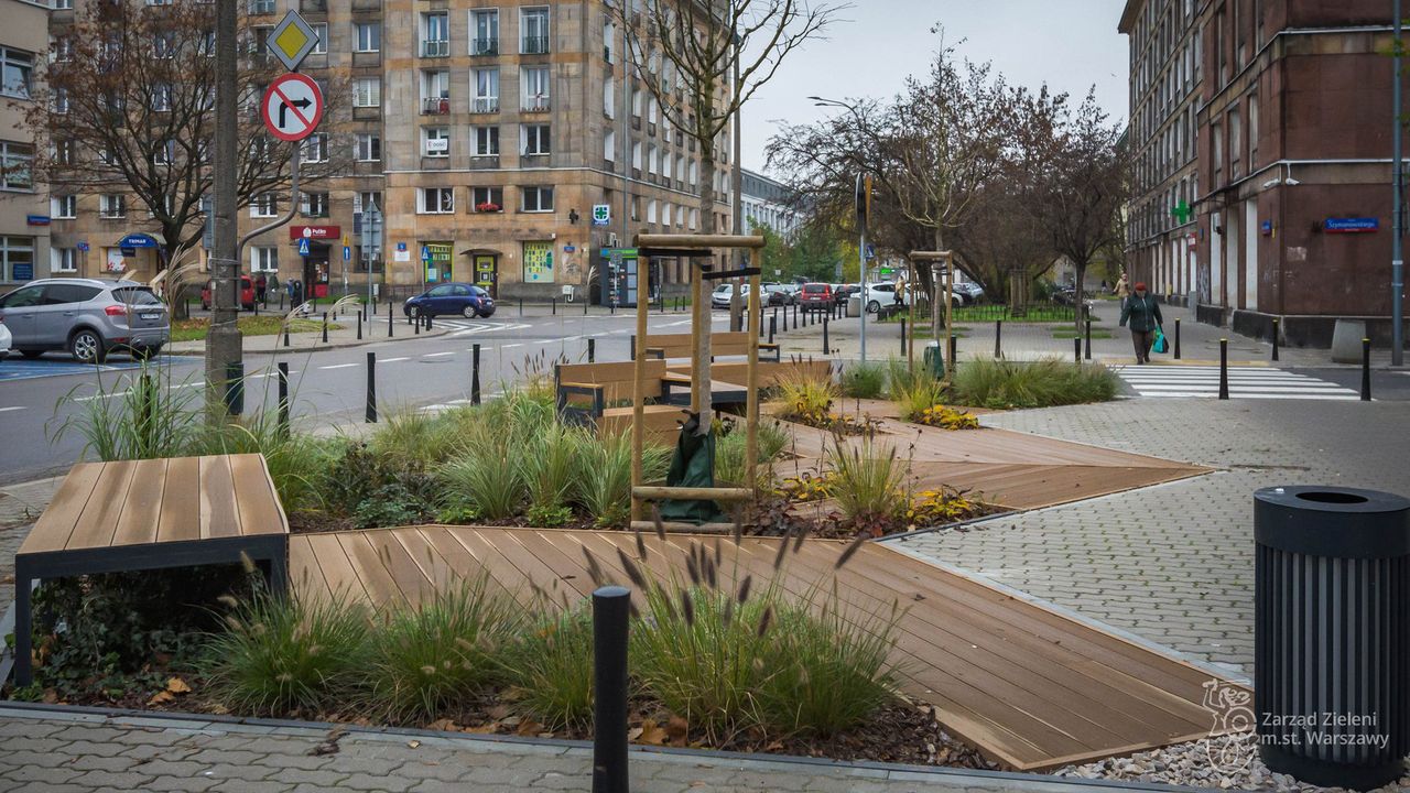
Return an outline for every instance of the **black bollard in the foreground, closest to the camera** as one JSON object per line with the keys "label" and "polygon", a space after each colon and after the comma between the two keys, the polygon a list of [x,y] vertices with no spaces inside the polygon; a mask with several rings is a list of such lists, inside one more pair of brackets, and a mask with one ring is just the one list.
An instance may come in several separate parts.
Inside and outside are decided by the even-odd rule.
{"label": "black bollard in the foreground, closest to the camera", "polygon": [[627,793],[626,653],[632,593],[592,593],[592,793]]}

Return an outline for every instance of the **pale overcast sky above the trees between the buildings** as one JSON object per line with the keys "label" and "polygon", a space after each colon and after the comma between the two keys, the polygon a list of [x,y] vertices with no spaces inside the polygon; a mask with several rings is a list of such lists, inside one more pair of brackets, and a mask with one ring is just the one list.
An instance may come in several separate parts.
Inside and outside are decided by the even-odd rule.
{"label": "pale overcast sky above the trees between the buildings", "polygon": [[[816,0],[812,0],[816,1]],[[1008,82],[1043,82],[1074,100],[1097,89],[1112,121],[1127,117],[1127,37],[1117,32],[1125,0],[852,0],[823,41],[795,49],[744,106],[743,164],[763,171],[764,147],[778,120],[812,123],[839,109],[815,107],[808,96],[891,97],[907,75],[924,75],[939,44],[990,61]],[[767,172],[767,171],[766,171]]]}

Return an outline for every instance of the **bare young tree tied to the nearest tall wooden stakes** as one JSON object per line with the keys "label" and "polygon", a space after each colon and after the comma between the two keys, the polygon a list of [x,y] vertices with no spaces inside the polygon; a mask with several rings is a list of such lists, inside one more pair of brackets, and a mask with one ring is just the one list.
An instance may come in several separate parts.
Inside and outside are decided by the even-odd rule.
{"label": "bare young tree tied to the nearest tall wooden stakes", "polygon": [[[611,8],[626,32],[636,76],[666,121],[699,147],[698,207],[704,233],[715,234],[715,168],[728,151],[725,131],[788,54],[822,35],[840,7],[808,0],[612,0]],[[698,353],[708,361],[709,301],[702,286],[694,306],[704,327]],[[709,388],[697,388],[692,402],[708,413]]]}

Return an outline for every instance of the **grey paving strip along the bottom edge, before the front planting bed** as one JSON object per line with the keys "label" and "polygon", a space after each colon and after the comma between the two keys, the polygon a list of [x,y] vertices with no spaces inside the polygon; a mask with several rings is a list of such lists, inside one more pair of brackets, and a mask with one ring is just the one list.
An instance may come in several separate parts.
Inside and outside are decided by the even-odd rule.
{"label": "grey paving strip along the bottom edge, before the front planting bed", "polygon": [[[0,792],[182,790],[439,793],[592,789],[582,745],[495,742],[471,737],[350,732],[336,753],[310,752],[321,730],[104,720],[0,708]],[[1042,776],[756,761],[632,752],[637,793],[812,790],[819,793],[1083,793],[1180,790],[1149,785],[1058,782]]]}

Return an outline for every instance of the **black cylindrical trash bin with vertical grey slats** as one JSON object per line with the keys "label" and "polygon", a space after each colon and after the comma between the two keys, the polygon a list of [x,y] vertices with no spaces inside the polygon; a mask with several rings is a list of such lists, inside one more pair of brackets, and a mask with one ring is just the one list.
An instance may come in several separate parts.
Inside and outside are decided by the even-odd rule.
{"label": "black cylindrical trash bin with vertical grey slats", "polygon": [[1259,753],[1358,790],[1410,753],[1410,500],[1342,487],[1253,494]]}

